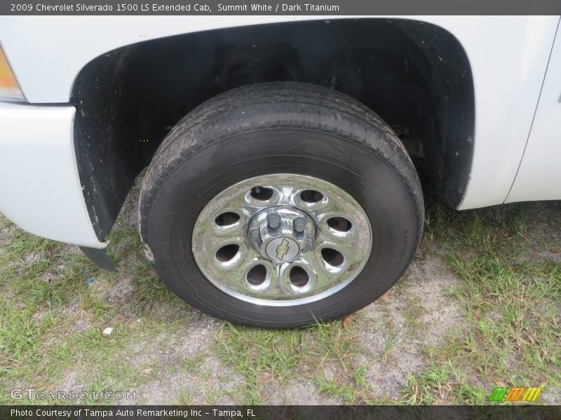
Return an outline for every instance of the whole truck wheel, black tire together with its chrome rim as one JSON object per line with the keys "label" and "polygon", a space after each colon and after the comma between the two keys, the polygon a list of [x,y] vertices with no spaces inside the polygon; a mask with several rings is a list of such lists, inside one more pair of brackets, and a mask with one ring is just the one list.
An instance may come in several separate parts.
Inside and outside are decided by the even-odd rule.
{"label": "whole truck wheel, black tire together with its chrome rim", "polygon": [[391,129],[303,83],[245,86],[191,111],[158,148],[139,206],[171,290],[269,328],[376,300],[405,271],[424,221],[417,173]]}

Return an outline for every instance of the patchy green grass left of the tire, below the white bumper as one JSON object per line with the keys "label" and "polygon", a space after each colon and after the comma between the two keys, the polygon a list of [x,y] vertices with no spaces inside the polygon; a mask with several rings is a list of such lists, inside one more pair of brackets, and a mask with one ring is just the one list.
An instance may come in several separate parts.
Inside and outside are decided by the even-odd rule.
{"label": "patchy green grass left of the tire, below the white bumper", "polygon": [[[92,391],[126,389],[131,379],[142,383],[137,380],[142,374],[130,369],[130,347],[143,330],[162,331],[165,324],[149,314],[142,328],[135,328],[131,316],[144,313],[130,308],[171,299],[154,271],[135,258],[137,235],[117,227],[110,237],[114,256],[133,260],[133,297],[122,305],[108,293],[116,274],[102,272],[77,248],[29,235],[2,216],[0,221],[11,230],[0,245],[0,403],[27,402],[9,398],[14,386],[56,391],[68,374],[76,376],[79,388]],[[93,280],[91,286],[86,279]],[[107,326],[114,328],[110,336],[102,335]]]}

